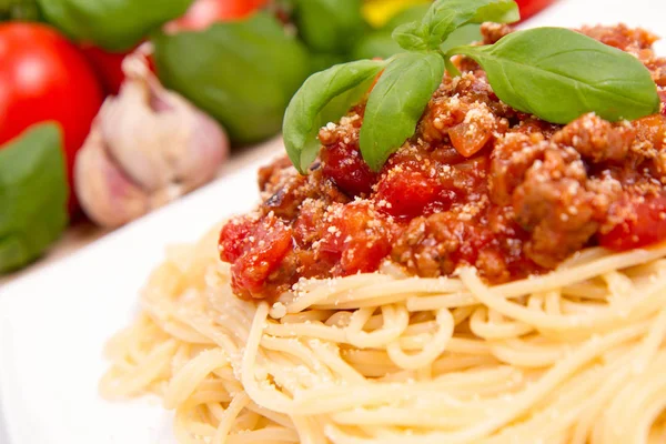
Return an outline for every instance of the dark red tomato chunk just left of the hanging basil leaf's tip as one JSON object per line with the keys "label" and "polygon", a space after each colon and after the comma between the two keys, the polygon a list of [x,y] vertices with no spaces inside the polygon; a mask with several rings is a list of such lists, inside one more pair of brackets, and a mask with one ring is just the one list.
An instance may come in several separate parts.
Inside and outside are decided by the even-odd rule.
{"label": "dark red tomato chunk just left of the hanging basil leaf's tip", "polygon": [[335,143],[322,150],[323,173],[346,195],[370,194],[376,174],[361,158],[355,147]]}

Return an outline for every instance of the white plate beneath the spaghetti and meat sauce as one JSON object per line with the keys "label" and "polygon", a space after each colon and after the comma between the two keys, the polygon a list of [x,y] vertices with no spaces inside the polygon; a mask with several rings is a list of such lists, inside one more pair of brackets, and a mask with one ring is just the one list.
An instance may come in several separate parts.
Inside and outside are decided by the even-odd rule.
{"label": "white plate beneath the spaghetti and meat sauce", "polygon": [[[666,36],[664,17],[663,0],[564,0],[529,24],[624,21]],[[102,347],[135,314],[138,290],[168,243],[194,241],[255,204],[256,167],[0,289],[0,443],[173,442],[171,416],[158,400],[99,397],[108,365]]]}

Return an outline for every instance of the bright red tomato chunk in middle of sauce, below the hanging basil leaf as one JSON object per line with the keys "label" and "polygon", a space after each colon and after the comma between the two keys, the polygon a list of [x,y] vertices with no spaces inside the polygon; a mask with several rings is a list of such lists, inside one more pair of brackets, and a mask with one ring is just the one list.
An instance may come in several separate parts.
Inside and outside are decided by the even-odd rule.
{"label": "bright red tomato chunk in middle of sauce, below the hanging basil leaf", "polygon": [[455,193],[445,190],[436,179],[420,171],[404,171],[385,176],[379,185],[376,202],[386,213],[400,219],[413,219],[426,209],[447,209]]}

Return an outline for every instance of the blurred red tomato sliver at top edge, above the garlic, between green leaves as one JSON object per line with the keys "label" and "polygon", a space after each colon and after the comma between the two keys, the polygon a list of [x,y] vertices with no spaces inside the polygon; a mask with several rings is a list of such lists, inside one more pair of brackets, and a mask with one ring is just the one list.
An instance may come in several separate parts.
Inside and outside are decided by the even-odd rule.
{"label": "blurred red tomato sliver at top edge, above the garlic, between green leaves", "polygon": [[202,30],[218,21],[239,20],[266,6],[269,0],[196,0],[169,31]]}

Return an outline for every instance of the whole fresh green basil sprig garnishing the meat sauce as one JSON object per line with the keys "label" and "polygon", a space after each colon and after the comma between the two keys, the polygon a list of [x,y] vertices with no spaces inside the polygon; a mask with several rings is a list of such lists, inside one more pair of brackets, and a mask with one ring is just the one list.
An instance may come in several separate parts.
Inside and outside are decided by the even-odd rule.
{"label": "whole fresh green basil sprig garnishing the meat sauce", "polygon": [[471,23],[518,19],[513,0],[437,0],[421,21],[395,29],[393,39],[407,52],[385,61],[337,64],[311,75],[284,115],[290,159],[305,174],[319,153],[319,128],[344,115],[384,69],[367,98],[360,134],[363,159],[379,171],[414,134],[444,67],[451,75],[458,74],[451,62],[457,54],[482,65],[502,101],[553,123],[568,123],[586,112],[617,121],[659,111],[656,85],[638,59],[575,31],[536,28],[490,46],[452,48],[446,42]]}

